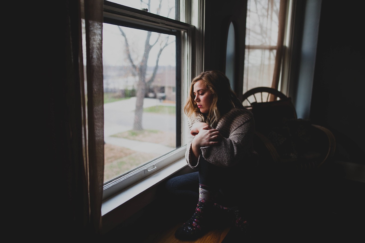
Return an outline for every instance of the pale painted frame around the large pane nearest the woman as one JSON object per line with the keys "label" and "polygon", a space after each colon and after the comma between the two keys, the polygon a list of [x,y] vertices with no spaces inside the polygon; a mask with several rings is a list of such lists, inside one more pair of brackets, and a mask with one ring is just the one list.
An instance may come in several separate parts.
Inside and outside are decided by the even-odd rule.
{"label": "pale painted frame around the large pane nearest the woman", "polygon": [[[118,7],[116,7],[116,5],[118,5]],[[185,6],[185,4],[180,3],[180,6]],[[187,6],[189,6],[189,4],[187,4]],[[183,16],[185,19],[185,11]],[[104,2],[104,18],[121,20],[123,22],[158,28],[162,30],[173,29],[181,32],[181,103],[177,105],[181,105],[181,107],[183,107],[185,97],[187,97],[188,94],[188,81],[190,81],[192,77],[200,71],[188,68],[195,66],[195,58],[192,58],[196,56],[195,53],[193,53],[193,51],[196,49],[193,48],[193,45],[196,45],[193,38],[195,34],[195,27],[191,24],[168,19],[162,16],[154,15],[152,13],[140,11],[138,9],[132,9],[123,5],[114,3],[108,4],[107,1]],[[181,159],[184,158],[186,151],[187,124],[183,109],[181,109],[180,117],[182,146],[158,159],[147,163],[146,165],[132,171],[131,173],[128,173],[126,175],[116,178],[115,180],[105,183],[103,186],[103,200],[127,189],[128,187],[138,183],[144,178],[153,175],[154,173],[160,171],[166,166],[172,164],[173,162],[181,161]]]}

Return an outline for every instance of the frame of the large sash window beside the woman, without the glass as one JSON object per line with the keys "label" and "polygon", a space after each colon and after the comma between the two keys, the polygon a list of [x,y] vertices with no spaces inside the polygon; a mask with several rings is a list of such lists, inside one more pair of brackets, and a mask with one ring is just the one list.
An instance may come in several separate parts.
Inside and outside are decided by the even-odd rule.
{"label": "frame of the large sash window beside the woman, without the glass", "polygon": [[[142,30],[150,30],[162,33],[171,34],[176,33],[177,39],[176,51],[180,54],[180,59],[176,64],[176,100],[180,100],[180,104],[176,104],[177,117],[176,128],[179,129],[180,134],[177,134],[177,147],[175,150],[168,154],[154,159],[140,166],[138,169],[131,171],[125,175],[119,176],[114,180],[104,183],[103,185],[103,200],[115,195],[116,193],[128,188],[129,186],[143,180],[149,175],[160,171],[164,167],[184,158],[186,151],[186,119],[184,118],[183,111],[181,109],[183,104],[183,97],[187,97],[188,81],[191,80],[195,73],[194,70],[190,70],[187,67],[194,66],[195,54],[193,51],[194,42],[193,36],[195,27],[191,24],[180,22],[178,20],[169,19],[163,16],[155,15],[139,9],[127,7],[124,5],[112,3],[110,1],[104,1],[103,6],[104,23],[118,24],[120,26],[127,26],[132,28],[138,28]],[[179,115],[180,113],[180,115]]]}

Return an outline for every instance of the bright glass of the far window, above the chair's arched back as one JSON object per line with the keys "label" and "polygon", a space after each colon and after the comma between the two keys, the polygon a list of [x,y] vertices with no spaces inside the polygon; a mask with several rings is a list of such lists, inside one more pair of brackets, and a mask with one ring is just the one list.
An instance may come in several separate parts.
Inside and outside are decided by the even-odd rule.
{"label": "bright glass of the far window, above the chair's arched back", "polygon": [[[278,39],[280,0],[248,0],[243,93],[271,87]],[[246,105],[246,104],[244,104]]]}

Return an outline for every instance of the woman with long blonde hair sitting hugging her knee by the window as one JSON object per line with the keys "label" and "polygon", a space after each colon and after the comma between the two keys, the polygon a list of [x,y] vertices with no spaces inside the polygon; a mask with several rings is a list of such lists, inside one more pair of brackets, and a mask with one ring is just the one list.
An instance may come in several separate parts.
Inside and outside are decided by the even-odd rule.
{"label": "woman with long blonde hair sitting hugging her knee by the window", "polygon": [[191,130],[185,158],[197,171],[170,178],[166,189],[179,200],[198,203],[176,238],[197,239],[224,219],[245,231],[248,224],[241,208],[248,207],[249,175],[257,166],[252,113],[219,71],[203,72],[192,80],[184,111]]}

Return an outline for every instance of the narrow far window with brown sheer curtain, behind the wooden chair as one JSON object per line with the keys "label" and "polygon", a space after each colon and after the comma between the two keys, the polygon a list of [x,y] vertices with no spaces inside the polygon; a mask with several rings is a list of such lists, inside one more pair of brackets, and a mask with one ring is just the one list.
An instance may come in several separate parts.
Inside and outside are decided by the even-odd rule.
{"label": "narrow far window with brown sheer curtain, behind the wooden chair", "polygon": [[285,31],[281,31],[290,26],[287,2],[289,6],[289,0],[247,1],[243,93],[258,86],[280,90],[284,85],[274,76],[275,70],[281,76],[287,72],[283,70],[281,62],[285,59],[288,46],[288,40],[284,38]]}

